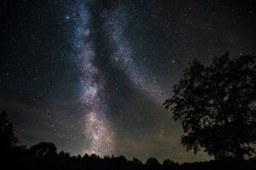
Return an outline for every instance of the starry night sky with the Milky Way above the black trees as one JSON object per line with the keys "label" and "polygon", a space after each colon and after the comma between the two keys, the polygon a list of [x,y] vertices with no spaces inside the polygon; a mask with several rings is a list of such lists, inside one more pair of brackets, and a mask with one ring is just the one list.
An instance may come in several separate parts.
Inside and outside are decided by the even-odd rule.
{"label": "starry night sky with the Milky Way above the black trees", "polygon": [[241,0],[3,0],[0,109],[22,144],[72,155],[206,161],[163,107],[192,59],[255,54]]}

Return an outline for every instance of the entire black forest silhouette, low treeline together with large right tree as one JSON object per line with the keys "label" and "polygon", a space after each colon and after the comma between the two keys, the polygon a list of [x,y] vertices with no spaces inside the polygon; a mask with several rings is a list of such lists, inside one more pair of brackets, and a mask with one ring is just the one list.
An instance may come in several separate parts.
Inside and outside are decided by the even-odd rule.
{"label": "entire black forest silhouette, low treeline together with large right tree", "polygon": [[[27,148],[15,137],[13,123],[6,111],[0,114],[1,166],[4,169],[253,169],[256,139],[255,57],[229,54],[213,59],[212,65],[190,63],[173,88],[172,99],[164,105],[173,119],[181,121],[181,144],[187,150],[206,151],[215,160],[178,163],[166,159],[160,163],[148,158],[143,163],[125,156],[70,156],[57,152],[55,144],[41,142]],[[248,156],[244,159],[244,156]]]}

